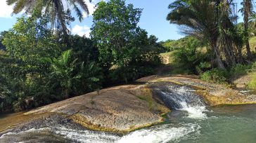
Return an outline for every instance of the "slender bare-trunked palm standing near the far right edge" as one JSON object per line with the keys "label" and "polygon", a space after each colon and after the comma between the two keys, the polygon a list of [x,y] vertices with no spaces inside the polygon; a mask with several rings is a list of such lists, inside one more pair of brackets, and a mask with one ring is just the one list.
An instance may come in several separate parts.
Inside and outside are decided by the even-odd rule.
{"label": "slender bare-trunked palm standing near the far right edge", "polygon": [[243,0],[242,4],[243,4],[242,12],[243,12],[243,27],[244,27],[246,51],[248,55],[248,60],[252,60],[252,53],[250,51],[249,32],[248,32],[249,17],[253,13],[252,0]]}

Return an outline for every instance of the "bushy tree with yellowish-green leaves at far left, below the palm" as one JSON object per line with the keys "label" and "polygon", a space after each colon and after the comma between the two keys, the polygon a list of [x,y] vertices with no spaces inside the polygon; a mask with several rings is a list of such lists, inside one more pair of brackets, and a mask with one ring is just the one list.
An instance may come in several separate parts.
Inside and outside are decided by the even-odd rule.
{"label": "bushy tree with yellowish-green leaves at far left, below the palm", "polygon": [[[60,45],[53,31],[45,28],[48,19],[18,18],[18,22],[4,35],[4,45],[8,53],[23,62],[24,71],[40,72],[49,67],[41,57],[56,57]],[[27,73],[24,73],[27,74]]]}

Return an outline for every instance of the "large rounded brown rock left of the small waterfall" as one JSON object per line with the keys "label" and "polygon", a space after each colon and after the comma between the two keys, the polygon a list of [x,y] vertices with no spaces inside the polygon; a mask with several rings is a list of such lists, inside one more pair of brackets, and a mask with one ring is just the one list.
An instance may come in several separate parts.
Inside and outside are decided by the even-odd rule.
{"label": "large rounded brown rock left of the small waterfall", "polygon": [[126,132],[162,122],[169,111],[153,101],[146,86],[117,86],[49,104],[25,113],[62,114],[94,130]]}

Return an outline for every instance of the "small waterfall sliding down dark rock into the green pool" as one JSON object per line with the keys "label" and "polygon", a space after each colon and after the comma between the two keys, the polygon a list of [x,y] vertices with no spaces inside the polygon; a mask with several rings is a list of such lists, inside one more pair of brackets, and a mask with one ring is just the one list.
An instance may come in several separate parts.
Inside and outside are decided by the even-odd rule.
{"label": "small waterfall sliding down dark rock into the green pool", "polygon": [[203,99],[196,94],[196,90],[188,86],[179,86],[172,83],[153,86],[153,93],[165,103],[169,109],[186,111],[188,118],[206,118],[206,105]]}

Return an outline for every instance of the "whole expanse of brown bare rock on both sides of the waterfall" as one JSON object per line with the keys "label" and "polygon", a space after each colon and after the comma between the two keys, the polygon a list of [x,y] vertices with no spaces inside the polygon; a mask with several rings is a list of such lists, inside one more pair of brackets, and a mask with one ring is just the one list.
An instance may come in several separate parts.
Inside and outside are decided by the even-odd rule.
{"label": "whole expanse of brown bare rock on both sides of the waterfall", "polygon": [[167,104],[161,94],[155,92],[165,92],[166,88],[172,95],[185,92],[189,96],[200,96],[207,106],[256,103],[256,95],[206,83],[196,76],[148,76],[137,82],[141,84],[106,88],[28,111],[22,114],[24,120],[9,123],[8,127],[27,129],[39,121],[43,127],[47,118],[51,118],[50,121],[56,118],[60,124],[65,121],[91,130],[130,132],[161,123],[162,114],[174,108],[172,102]]}

